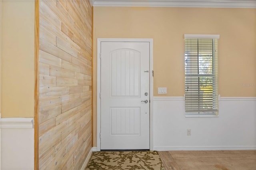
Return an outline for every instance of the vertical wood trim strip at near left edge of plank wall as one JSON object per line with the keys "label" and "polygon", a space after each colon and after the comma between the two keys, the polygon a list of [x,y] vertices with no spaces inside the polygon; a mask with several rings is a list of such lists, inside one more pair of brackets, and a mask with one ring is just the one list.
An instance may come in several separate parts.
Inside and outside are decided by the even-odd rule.
{"label": "vertical wood trim strip at near left edge of plank wall", "polygon": [[38,55],[39,55],[39,0],[35,0],[35,89],[34,89],[34,170],[39,169],[39,132],[38,132]]}

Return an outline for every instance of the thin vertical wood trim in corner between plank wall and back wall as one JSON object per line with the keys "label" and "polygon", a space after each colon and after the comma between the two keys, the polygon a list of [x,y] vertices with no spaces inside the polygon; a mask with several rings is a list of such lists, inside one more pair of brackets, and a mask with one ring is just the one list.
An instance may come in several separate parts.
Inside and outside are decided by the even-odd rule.
{"label": "thin vertical wood trim in corner between plank wall and back wall", "polygon": [[[91,3],[91,2],[90,2]],[[93,79],[93,48],[94,48],[94,45],[93,45],[93,6],[92,6],[92,79]],[[94,141],[94,129],[93,129],[93,84],[94,84],[94,81],[92,81],[92,147],[93,147],[93,141]]]}

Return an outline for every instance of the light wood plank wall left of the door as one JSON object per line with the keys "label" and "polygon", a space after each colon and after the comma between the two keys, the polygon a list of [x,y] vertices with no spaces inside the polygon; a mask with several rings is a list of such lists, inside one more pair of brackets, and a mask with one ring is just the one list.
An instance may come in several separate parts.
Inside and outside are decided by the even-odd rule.
{"label": "light wood plank wall left of the door", "polygon": [[92,6],[40,0],[39,169],[80,169],[92,148]]}

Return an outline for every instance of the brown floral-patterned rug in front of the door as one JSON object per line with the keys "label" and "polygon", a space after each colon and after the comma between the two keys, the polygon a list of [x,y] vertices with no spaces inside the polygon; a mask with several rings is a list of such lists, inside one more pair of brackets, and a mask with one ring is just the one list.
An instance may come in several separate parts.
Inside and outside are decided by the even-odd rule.
{"label": "brown floral-patterned rug in front of the door", "polygon": [[165,170],[157,151],[93,152],[85,170]]}

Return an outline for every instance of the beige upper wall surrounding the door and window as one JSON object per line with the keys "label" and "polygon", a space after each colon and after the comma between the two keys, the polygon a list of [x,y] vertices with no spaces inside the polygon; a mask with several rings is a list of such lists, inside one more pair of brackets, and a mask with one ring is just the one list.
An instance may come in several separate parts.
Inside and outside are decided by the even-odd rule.
{"label": "beige upper wall surrounding the door and window", "polygon": [[[219,94],[255,97],[255,13],[256,9],[241,8],[94,7],[93,89],[97,38],[153,38],[154,96],[183,96],[184,34],[220,34]],[[158,95],[158,87],[167,87],[168,93]],[[96,90],[93,95],[96,129]]]}

